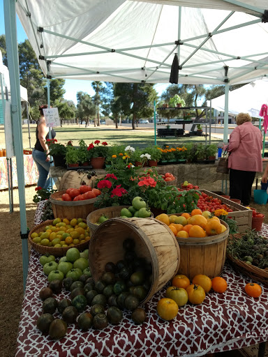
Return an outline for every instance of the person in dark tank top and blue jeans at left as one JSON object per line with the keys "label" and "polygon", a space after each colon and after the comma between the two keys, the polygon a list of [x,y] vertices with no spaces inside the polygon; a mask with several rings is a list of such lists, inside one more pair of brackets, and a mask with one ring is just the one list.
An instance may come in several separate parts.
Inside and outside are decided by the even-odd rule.
{"label": "person in dark tank top and blue jeans at left", "polygon": [[[46,109],[47,105],[40,105],[40,118],[37,122],[36,127],[36,144],[33,150],[33,159],[36,162],[39,177],[37,185],[41,188],[47,189],[50,186],[50,180],[47,179],[48,173],[50,172],[50,155],[48,155],[48,146],[46,140],[49,139],[49,129],[45,124],[45,116],[43,109]],[[54,139],[56,132],[51,130],[51,137]]]}

